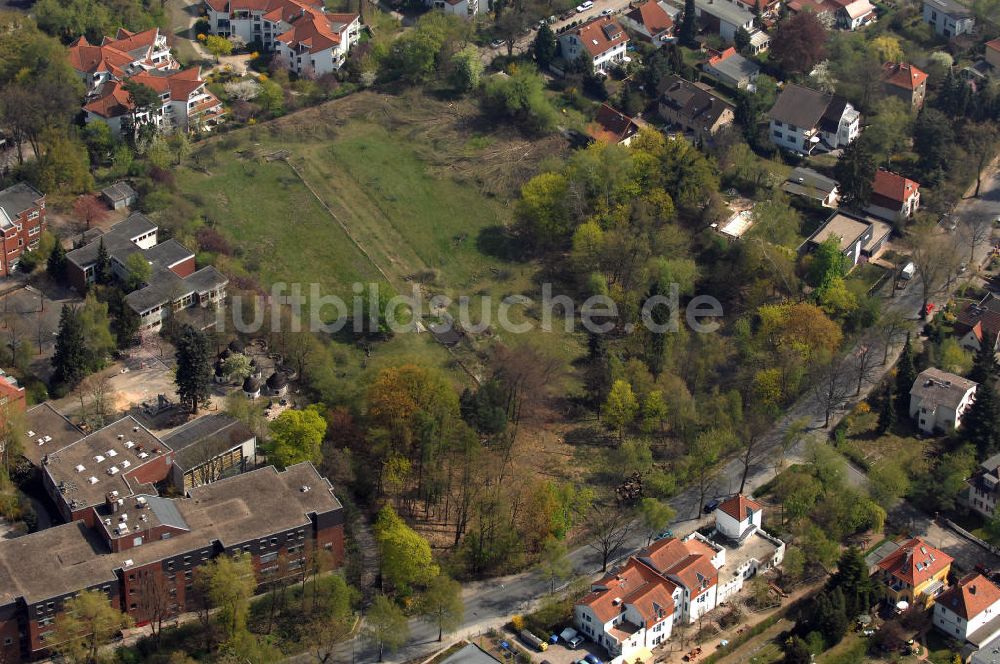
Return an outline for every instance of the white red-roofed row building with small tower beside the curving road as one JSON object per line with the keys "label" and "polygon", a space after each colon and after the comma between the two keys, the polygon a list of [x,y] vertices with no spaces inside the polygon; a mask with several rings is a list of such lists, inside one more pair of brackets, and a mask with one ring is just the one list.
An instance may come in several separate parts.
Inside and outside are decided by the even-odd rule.
{"label": "white red-roofed row building with small tower beside the curving road", "polygon": [[762,514],[760,503],[736,495],[716,509],[710,537],[670,537],[639,551],[591,584],[573,608],[577,629],[614,661],[631,661],[669,639],[675,624],[697,622],[781,564],[785,545],[764,532]]}

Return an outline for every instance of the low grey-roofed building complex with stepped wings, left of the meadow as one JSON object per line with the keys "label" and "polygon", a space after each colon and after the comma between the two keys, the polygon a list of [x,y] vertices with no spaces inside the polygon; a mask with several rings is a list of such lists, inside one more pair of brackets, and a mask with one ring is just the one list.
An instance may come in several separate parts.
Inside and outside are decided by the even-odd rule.
{"label": "low grey-roofed building complex with stepped wings, left of the meadow", "polygon": [[134,212],[106,233],[66,254],[66,273],[70,284],[85,291],[97,276],[101,246],[108,254],[114,274],[129,278],[128,259],[141,253],[150,264],[150,275],[142,287],[125,297],[125,303],[139,316],[140,330],[158,330],[170,315],[184,311],[193,324],[210,327],[213,316],[198,320],[198,309],[213,313],[226,297],[229,280],[208,265],[195,269],[194,252],[176,240],[157,243],[158,227],[145,215]]}

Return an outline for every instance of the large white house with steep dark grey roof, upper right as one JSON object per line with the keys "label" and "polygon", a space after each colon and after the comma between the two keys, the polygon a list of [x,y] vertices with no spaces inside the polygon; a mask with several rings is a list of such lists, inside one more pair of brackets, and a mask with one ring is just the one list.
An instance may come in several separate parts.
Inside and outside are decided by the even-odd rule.
{"label": "large white house with steep dark grey roof, upper right", "polygon": [[846,147],[861,133],[861,113],[843,97],[789,83],[771,108],[771,142],[801,154]]}

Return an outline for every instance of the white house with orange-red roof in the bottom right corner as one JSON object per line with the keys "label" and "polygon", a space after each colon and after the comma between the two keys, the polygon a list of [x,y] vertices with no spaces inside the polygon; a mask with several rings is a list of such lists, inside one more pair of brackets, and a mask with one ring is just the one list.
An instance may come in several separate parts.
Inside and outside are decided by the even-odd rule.
{"label": "white house with orange-red roof in the bottom right corner", "polygon": [[969,574],[938,596],[934,627],[980,647],[1000,636],[1000,588],[982,574]]}

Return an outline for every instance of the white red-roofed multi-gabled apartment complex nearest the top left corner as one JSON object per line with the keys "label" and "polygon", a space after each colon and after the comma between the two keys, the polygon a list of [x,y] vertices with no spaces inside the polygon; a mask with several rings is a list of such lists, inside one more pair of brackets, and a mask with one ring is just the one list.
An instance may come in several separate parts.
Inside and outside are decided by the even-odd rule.
{"label": "white red-roofed multi-gabled apartment complex nearest the top left corner", "polygon": [[[111,133],[138,123],[165,132],[208,129],[222,121],[222,102],[205,88],[201,70],[180,69],[166,36],[153,28],[121,29],[94,46],[80,37],[69,47],[69,61],[87,85],[83,110],[87,122],[105,122]],[[137,109],[125,83],[141,83],[160,95],[158,109]]]}

